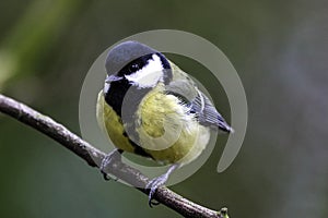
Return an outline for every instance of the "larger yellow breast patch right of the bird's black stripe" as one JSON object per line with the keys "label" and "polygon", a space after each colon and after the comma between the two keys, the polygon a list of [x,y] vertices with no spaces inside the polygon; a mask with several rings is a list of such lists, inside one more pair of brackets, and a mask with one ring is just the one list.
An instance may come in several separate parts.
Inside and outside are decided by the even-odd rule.
{"label": "larger yellow breast patch right of the bird's black stripe", "polygon": [[204,149],[210,130],[200,125],[186,110],[175,96],[164,93],[161,83],[141,101],[137,111],[140,124],[137,132],[141,146],[150,148],[145,152],[155,160],[187,164]]}

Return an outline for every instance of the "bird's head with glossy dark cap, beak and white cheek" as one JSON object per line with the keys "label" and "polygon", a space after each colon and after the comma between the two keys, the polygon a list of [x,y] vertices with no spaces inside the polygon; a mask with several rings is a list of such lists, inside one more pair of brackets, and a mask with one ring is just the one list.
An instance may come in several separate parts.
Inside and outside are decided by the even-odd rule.
{"label": "bird's head with glossy dark cap, beak and white cheek", "polygon": [[[138,41],[125,41],[109,50],[106,59],[107,88],[125,81],[138,88],[151,88],[172,78],[171,65],[164,55]],[[106,93],[106,85],[105,85]]]}

